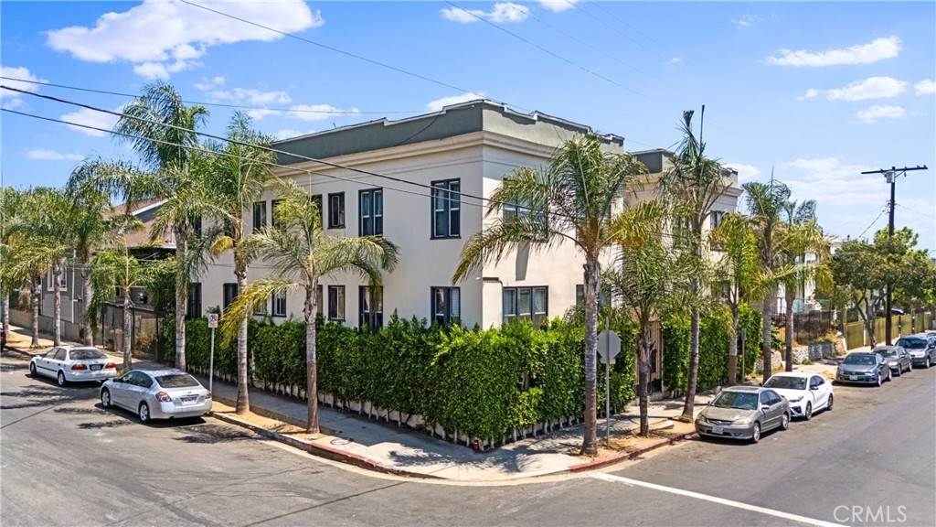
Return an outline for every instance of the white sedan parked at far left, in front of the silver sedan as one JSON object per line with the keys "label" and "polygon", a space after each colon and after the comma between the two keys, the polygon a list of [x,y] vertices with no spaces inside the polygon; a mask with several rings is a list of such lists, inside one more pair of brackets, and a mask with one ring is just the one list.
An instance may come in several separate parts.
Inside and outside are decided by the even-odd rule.
{"label": "white sedan parked at far left, in front of the silver sedan", "polygon": [[55,379],[60,386],[82,381],[107,381],[117,374],[110,357],[92,346],[58,346],[29,361],[29,373]]}

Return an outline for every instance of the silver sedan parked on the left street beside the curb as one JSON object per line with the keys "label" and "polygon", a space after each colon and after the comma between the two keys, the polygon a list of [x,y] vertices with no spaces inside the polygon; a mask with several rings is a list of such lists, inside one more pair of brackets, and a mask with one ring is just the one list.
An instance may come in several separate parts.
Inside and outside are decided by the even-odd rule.
{"label": "silver sedan parked on the left street beside the curb", "polygon": [[212,392],[181,369],[131,369],[101,386],[101,405],[150,419],[198,417],[212,410]]}

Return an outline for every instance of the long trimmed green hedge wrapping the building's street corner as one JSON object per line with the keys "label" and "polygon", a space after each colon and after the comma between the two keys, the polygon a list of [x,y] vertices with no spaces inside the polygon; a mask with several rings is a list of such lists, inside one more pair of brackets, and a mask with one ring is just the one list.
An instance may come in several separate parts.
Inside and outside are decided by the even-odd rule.
{"label": "long trimmed green hedge wrapping the building's street corner", "polygon": [[[342,324],[317,325],[318,390],[336,402],[370,401],[398,411],[402,420],[421,415],[448,432],[499,440],[512,429],[555,422],[582,414],[584,330],[556,319],[534,329],[516,321],[487,331],[427,325],[396,313],[378,330]],[[186,363],[208,369],[207,321],[187,321]],[[636,330],[612,324],[622,337],[622,354],[610,375],[611,406],[620,410],[635,397]],[[168,341],[174,324],[167,324]],[[251,321],[248,351],[254,378],[267,384],[304,389],[305,323],[273,325]],[[237,347],[215,339],[214,367],[236,375]],[[627,353],[631,350],[631,353]],[[174,360],[169,354],[168,360]],[[599,365],[599,369],[604,369]],[[598,407],[605,407],[604,372],[599,375]]]}

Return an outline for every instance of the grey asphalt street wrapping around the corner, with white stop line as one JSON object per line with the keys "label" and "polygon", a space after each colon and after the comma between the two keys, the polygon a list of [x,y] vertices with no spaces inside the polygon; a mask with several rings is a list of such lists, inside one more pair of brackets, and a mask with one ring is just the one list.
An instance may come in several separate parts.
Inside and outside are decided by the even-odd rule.
{"label": "grey asphalt street wrapping around the corner, with white stop line", "polygon": [[936,369],[836,386],[760,444],[692,441],[601,473],[454,485],[365,473],[212,418],[140,425],[97,384],[0,361],[0,524],[936,525]]}

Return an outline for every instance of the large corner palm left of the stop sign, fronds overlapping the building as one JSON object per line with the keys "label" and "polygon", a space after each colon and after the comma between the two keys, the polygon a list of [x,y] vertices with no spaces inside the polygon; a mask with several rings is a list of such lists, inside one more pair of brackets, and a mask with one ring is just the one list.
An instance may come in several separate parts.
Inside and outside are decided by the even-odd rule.
{"label": "large corner palm left of the stop sign, fronds overlapping the building", "polygon": [[[485,264],[503,259],[509,249],[548,251],[569,243],[585,256],[584,455],[593,456],[598,451],[599,259],[618,236],[610,229],[612,209],[645,173],[646,167],[633,155],[605,151],[595,134],[563,143],[547,168],[519,168],[491,194],[487,214],[494,220],[465,242],[452,277],[453,283],[467,279]],[[508,206],[517,214],[505,214]]]}

